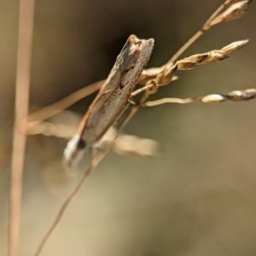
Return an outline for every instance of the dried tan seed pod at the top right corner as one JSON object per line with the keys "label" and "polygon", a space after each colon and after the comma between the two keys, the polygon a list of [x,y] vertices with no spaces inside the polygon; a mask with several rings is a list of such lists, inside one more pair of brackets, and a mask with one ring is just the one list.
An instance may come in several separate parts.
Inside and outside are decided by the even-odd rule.
{"label": "dried tan seed pod at the top right corner", "polygon": [[221,22],[240,19],[243,15],[246,14],[248,6],[251,2],[252,1],[247,0],[230,5],[230,7],[226,9],[222,14],[213,19],[210,25],[213,26]]}

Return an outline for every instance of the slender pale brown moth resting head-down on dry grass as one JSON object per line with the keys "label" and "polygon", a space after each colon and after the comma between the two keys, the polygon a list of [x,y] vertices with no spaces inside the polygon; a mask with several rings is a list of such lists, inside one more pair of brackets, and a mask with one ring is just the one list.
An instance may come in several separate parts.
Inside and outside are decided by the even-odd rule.
{"label": "slender pale brown moth resting head-down on dry grass", "polygon": [[93,148],[115,123],[130,103],[131,92],[147,66],[153,52],[154,39],[138,39],[131,35],[113,65],[108,79],[79,125],[78,131],[64,150],[64,165],[76,166],[85,148]]}

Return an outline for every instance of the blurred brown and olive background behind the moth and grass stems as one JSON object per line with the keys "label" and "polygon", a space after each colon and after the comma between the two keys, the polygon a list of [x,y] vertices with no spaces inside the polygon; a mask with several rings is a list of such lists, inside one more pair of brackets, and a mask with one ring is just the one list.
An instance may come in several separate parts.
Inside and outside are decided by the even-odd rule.
{"label": "blurred brown and olive background behind the moth and grass stems", "polygon": [[[31,112],[108,76],[126,38],[154,38],[159,67],[222,0],[36,1]],[[0,254],[7,253],[18,1],[0,0]],[[249,38],[230,59],[177,73],[152,97],[255,87],[255,4],[214,26],[183,56]],[[83,114],[95,94],[69,110]],[[143,108],[125,132],[160,143],[155,158],[110,152],[68,208],[46,255],[226,256],[256,254],[256,101]],[[71,124],[77,125],[77,124]],[[61,138],[28,137],[20,256],[32,255],[88,165],[70,177]]]}

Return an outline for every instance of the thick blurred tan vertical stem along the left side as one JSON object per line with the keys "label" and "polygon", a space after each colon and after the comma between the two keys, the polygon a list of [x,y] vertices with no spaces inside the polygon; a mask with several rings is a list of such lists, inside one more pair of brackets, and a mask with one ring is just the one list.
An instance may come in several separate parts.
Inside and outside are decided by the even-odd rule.
{"label": "thick blurred tan vertical stem along the left side", "polygon": [[9,202],[9,256],[18,253],[22,175],[26,149],[26,135],[20,130],[22,119],[28,114],[31,69],[32,27],[34,0],[20,0],[17,73],[15,85],[15,125],[11,162]]}

